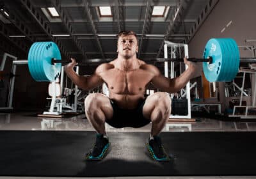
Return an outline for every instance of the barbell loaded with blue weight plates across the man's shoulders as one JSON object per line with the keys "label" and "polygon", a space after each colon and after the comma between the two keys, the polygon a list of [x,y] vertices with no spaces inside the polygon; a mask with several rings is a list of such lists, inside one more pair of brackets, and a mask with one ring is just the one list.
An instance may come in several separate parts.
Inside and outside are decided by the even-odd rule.
{"label": "barbell loaded with blue weight plates across the man's shoulders", "polygon": [[[106,62],[111,60],[105,59]],[[184,60],[156,58],[149,61]],[[204,75],[209,82],[232,81],[237,75],[240,62],[256,63],[253,58],[240,58],[237,43],[232,38],[211,38],[205,45],[203,58],[188,58],[188,61],[202,62]],[[28,67],[35,81],[55,81],[60,75],[61,65],[67,63],[70,60],[61,60],[60,50],[54,42],[35,42],[29,49]]]}

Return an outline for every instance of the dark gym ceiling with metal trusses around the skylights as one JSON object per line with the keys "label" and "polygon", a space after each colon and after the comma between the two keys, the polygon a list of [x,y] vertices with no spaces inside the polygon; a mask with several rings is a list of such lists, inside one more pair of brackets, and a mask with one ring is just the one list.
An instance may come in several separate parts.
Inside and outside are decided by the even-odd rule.
{"label": "dark gym ceiling with metal trusses around the skylights", "polygon": [[[140,41],[139,58],[161,58],[164,40],[188,42],[211,3],[211,0],[1,0],[1,54],[9,52],[26,59],[33,42],[54,41],[62,58],[72,56],[83,62],[116,58],[116,34],[132,30]],[[56,8],[60,18],[45,15],[42,8],[50,6]],[[99,17],[98,6],[111,6],[113,17]],[[170,6],[170,9],[166,17],[152,17],[153,6]],[[60,34],[70,36],[52,36]]]}

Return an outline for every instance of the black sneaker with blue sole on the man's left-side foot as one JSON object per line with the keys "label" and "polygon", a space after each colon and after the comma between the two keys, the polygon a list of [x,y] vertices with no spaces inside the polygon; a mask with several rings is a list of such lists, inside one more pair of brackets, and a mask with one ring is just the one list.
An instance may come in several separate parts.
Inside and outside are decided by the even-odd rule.
{"label": "black sneaker with blue sole on the man's left-side foot", "polygon": [[97,134],[96,143],[93,148],[86,153],[86,160],[101,160],[106,156],[109,148],[108,138],[104,137],[103,134]]}

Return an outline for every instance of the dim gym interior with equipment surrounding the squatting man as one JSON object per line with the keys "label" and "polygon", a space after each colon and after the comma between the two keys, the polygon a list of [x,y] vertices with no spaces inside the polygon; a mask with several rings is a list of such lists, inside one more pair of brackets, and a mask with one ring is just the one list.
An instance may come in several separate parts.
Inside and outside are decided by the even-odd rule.
{"label": "dim gym interior with equipment surrounding the squatting man", "polygon": [[[0,178],[256,178],[255,6],[1,0]],[[168,93],[172,113],[159,134],[173,155],[168,162],[152,160],[145,147],[151,123],[106,123],[111,150],[100,161],[84,161],[95,140],[84,100],[91,93],[109,97],[109,89],[79,88],[64,65],[74,58],[74,72],[90,77],[117,58],[116,35],[124,30],[138,36],[137,58],[167,78],[187,69],[185,56],[198,59],[195,76]],[[148,83],[145,96],[158,91]]]}

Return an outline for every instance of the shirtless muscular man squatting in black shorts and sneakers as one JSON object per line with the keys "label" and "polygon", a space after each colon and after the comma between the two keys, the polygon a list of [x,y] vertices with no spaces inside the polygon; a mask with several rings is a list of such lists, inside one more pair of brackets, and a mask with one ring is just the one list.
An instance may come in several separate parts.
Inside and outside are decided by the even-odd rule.
{"label": "shirtless muscular man squatting in black shorts and sneakers", "polygon": [[[95,146],[86,154],[86,159],[102,159],[108,150],[105,122],[116,128],[138,128],[152,122],[147,148],[153,159],[170,160],[158,136],[171,113],[168,93],[186,86],[196,72],[196,65],[184,58],[184,63],[188,65],[185,72],[174,79],[164,77],[156,66],[136,58],[138,38],[133,31],[118,33],[117,52],[115,60],[99,65],[90,77],[74,72],[74,59],[65,66],[68,77],[79,88],[89,90],[106,82],[109,89],[109,97],[102,93],[91,93],[84,101],[86,117],[97,131]],[[157,92],[145,98],[145,88],[149,82],[168,93]]]}

